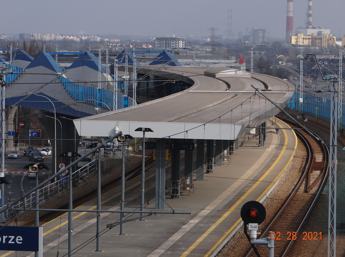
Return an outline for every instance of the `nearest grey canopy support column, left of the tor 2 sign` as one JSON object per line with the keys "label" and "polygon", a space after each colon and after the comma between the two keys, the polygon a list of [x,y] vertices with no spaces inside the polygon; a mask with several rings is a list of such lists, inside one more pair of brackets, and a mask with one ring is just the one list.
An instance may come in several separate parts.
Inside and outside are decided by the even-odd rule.
{"label": "nearest grey canopy support column, left of the tor 2 sign", "polygon": [[156,140],[156,209],[165,208],[165,139]]}

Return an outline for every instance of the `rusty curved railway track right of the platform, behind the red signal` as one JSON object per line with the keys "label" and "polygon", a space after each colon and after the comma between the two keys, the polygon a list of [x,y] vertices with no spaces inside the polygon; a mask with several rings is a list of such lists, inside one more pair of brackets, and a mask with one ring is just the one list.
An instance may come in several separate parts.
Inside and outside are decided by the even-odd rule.
{"label": "rusty curved railway track right of the platform, behind the red signal", "polygon": [[[291,127],[296,124],[285,120]],[[275,237],[274,256],[289,256],[289,250],[296,240],[302,240],[307,236],[319,238],[321,234],[314,235],[313,231],[301,231],[304,221],[312,210],[328,175],[328,149],[317,141],[317,135],[308,130],[295,130],[307,149],[307,160],[302,168],[302,176],[290,194],[284,205],[272,219],[260,238],[268,236],[268,231],[273,231]],[[303,233],[305,232],[305,233]],[[308,234],[309,233],[309,234]],[[272,236],[272,237],[273,237]],[[257,247],[260,256],[268,256],[267,248]],[[256,256],[253,249],[246,257]]]}

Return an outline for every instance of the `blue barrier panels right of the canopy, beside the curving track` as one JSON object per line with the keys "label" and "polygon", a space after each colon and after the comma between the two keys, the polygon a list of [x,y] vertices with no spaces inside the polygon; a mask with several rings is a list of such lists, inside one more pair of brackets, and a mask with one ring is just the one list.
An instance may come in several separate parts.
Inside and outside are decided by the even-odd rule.
{"label": "blue barrier panels right of the canopy, beside the curving track", "polygon": [[[295,92],[287,104],[286,108],[299,109],[299,92]],[[308,112],[317,117],[330,119],[331,117],[331,99],[318,97],[315,95],[303,94],[302,111]],[[345,125],[345,104],[342,104],[342,116],[340,122]]]}

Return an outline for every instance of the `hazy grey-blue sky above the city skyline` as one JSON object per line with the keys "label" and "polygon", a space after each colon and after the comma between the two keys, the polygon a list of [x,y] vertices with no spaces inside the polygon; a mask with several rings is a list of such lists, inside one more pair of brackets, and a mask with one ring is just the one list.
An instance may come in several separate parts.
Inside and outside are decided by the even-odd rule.
{"label": "hazy grey-blue sky above the city skyline", "polygon": [[[232,31],[265,29],[268,37],[285,39],[286,0],[17,0],[7,6],[0,34],[59,33],[176,37],[210,35],[210,27],[226,36],[228,9]],[[294,30],[304,26],[308,0],[294,1]],[[344,36],[344,0],[313,0],[314,26]],[[3,10],[4,11],[4,10]],[[4,16],[5,17],[5,16]]]}

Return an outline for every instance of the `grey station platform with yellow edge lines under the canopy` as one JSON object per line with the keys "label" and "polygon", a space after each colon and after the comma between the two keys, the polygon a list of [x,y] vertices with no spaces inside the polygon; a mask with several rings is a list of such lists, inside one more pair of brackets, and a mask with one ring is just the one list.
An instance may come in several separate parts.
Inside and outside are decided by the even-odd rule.
{"label": "grey station platform with yellow edge lines under the canopy", "polygon": [[[286,128],[282,121],[276,127]],[[272,129],[272,132],[275,129]],[[297,138],[293,130],[267,133],[265,145],[248,142],[231,155],[231,162],[215,166],[203,181],[193,181],[194,192],[180,198],[165,198],[165,210],[188,214],[153,214],[145,221],[112,229],[107,224],[119,220],[119,213],[102,213],[100,252],[96,252],[96,213],[73,213],[73,256],[206,257],[215,256],[242,226],[240,209],[250,200],[262,202],[277,184],[295,154]],[[181,157],[183,158],[183,156]],[[169,166],[169,162],[168,162]],[[183,169],[181,165],[181,169]],[[155,212],[155,169],[146,172],[145,210]],[[96,199],[81,210],[96,210]],[[120,187],[102,195],[102,210],[120,210]],[[126,181],[125,210],[140,210],[140,179]],[[158,210],[157,210],[158,211]],[[125,214],[131,219],[140,214]],[[43,225],[43,256],[68,256],[68,214]],[[30,252],[1,251],[4,256],[34,256]]]}

